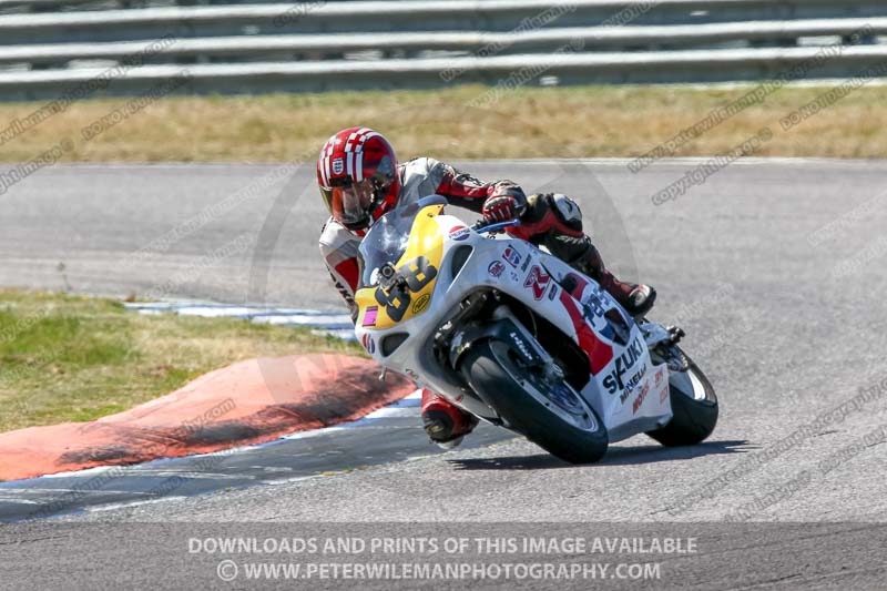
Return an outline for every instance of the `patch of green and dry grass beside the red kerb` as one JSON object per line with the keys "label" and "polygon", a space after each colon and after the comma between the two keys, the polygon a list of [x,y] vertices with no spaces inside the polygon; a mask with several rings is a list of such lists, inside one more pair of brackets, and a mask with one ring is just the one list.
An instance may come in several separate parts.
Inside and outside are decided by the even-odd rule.
{"label": "patch of green and dry grass beside the red kerb", "polygon": [[318,351],[363,354],[307,329],[0,289],[0,432],[120,412],[234,361]]}

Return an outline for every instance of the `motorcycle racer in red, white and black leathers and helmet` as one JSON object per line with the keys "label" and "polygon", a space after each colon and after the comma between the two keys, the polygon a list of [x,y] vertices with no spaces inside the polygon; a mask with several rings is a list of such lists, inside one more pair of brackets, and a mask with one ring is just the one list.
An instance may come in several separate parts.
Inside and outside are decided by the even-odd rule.
{"label": "motorcycle racer in red, white and black leathers and helmet", "polygon": [[[432,194],[481,214],[488,223],[519,218],[521,225],[509,228],[509,234],[544,246],[592,277],[633,316],[643,316],[655,302],[652,287],[621,282],[605,268],[582,231],[579,205],[565,195],[527,196],[512,181],[483,183],[430,157],[398,164],[388,140],[369,128],[348,128],[329,137],[317,160],[317,184],[330,213],[320,234],[320,254],[353,318],[357,252],[366,231],[395,207]],[[443,447],[458,445],[477,426],[477,418],[427,389],[421,414],[426,432]]]}

